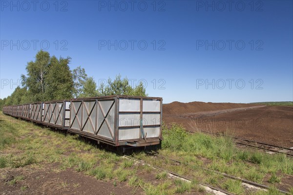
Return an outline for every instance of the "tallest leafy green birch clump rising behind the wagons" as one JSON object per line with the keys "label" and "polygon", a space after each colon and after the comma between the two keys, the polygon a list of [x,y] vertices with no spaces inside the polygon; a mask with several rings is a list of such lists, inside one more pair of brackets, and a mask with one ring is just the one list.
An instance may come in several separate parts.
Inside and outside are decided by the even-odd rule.
{"label": "tallest leafy green birch clump rising behind the wagons", "polygon": [[[21,84],[27,89],[19,103],[72,98],[74,83],[66,59],[39,51],[35,61],[27,63],[27,76],[21,75]],[[19,98],[20,99],[20,98]],[[14,104],[14,102],[12,102]]]}

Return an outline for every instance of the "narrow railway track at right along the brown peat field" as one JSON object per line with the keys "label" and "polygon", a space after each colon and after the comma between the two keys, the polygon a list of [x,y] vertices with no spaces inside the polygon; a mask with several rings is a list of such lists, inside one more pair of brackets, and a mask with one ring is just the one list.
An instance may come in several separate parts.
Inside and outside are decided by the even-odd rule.
{"label": "narrow railway track at right along the brown peat field", "polygon": [[[188,132],[192,133],[192,134],[195,133],[195,132],[191,132],[191,131],[188,131]],[[211,135],[216,135],[216,136],[230,137],[230,136],[221,135],[221,134],[218,134],[218,133],[210,133],[210,132],[207,132],[207,131],[200,131],[200,132],[211,134]],[[230,137],[230,138],[233,138],[234,139],[233,142],[235,144],[237,144],[237,145],[246,146],[246,147],[254,148],[254,149],[258,149],[258,150],[264,150],[264,151],[267,151],[267,152],[285,154],[286,156],[293,157],[293,148],[275,146],[275,145],[272,145],[272,144],[267,144],[267,143],[262,143],[262,142],[258,142],[258,141],[243,139],[243,138],[239,138],[239,137]]]}

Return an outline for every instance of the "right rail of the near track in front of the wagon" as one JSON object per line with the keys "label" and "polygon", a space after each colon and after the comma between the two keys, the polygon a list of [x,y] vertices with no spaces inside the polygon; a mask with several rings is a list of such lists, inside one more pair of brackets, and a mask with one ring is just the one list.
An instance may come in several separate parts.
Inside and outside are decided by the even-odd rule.
{"label": "right rail of the near track in front of the wagon", "polygon": [[[179,164],[186,164],[186,163],[181,162],[180,160],[176,160],[176,159],[168,158],[168,157],[166,157],[166,156],[159,155],[157,152],[155,152],[155,153],[146,152],[146,154],[148,154],[148,155],[152,155],[152,156],[157,156],[157,157],[162,157],[162,158],[168,159],[168,160],[170,160],[170,161],[173,161],[173,162],[176,162],[176,163],[179,163]],[[189,165],[189,164],[188,164],[188,165]],[[230,176],[230,175],[228,175],[228,174],[221,173],[221,172],[218,172],[218,171],[214,171],[214,170],[211,170],[211,169],[208,169],[208,168],[205,168],[205,167],[199,167],[199,168],[201,168],[201,169],[203,169],[203,170],[206,170],[206,171],[214,172],[214,173],[216,173],[216,174],[220,174],[220,175],[225,176],[225,177],[227,177],[227,178],[231,178],[231,179],[234,179],[234,180],[240,180],[240,181],[242,181],[243,183],[246,183],[246,184],[252,185],[252,186],[257,187],[257,188],[262,188],[262,189],[266,189],[266,190],[269,189],[269,186],[266,186],[266,185],[263,185],[263,184],[259,184],[259,183],[255,183],[255,182],[253,182],[253,181],[249,181],[249,180],[246,180],[246,179],[242,179],[242,178],[240,178],[240,177]],[[280,193],[283,193],[283,194],[289,194],[289,192],[286,192],[286,191],[283,191],[283,190],[280,190],[280,189],[278,189],[278,191],[279,191]]]}

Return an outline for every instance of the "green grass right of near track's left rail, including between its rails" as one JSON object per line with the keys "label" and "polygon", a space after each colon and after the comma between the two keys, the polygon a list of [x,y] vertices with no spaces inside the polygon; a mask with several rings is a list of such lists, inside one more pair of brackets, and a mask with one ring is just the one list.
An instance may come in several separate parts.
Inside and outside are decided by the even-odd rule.
{"label": "green grass right of near track's left rail, including between its rails", "polygon": [[[222,185],[231,193],[243,194],[245,190],[238,181],[224,179],[221,175],[201,173],[200,167],[206,166],[209,169],[257,183],[262,183],[266,176],[271,176],[268,182],[280,183],[281,177],[273,175],[276,172],[293,175],[293,161],[289,157],[242,150],[237,148],[229,137],[213,137],[201,132],[189,134],[177,124],[173,124],[170,128],[164,126],[163,137],[160,154],[178,159],[183,164],[174,166],[168,160],[151,160],[148,156],[143,157],[141,154],[138,156],[149,164],[164,167],[181,175],[190,175],[214,186]],[[199,160],[199,156],[207,159],[208,162]],[[156,177],[159,177],[159,174]]]}

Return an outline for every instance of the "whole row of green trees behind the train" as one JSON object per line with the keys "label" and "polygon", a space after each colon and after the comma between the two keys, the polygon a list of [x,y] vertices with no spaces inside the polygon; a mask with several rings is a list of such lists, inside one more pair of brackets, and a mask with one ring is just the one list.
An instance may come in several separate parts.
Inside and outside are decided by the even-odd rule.
{"label": "whole row of green trees behind the train", "polygon": [[84,68],[70,70],[70,57],[59,59],[46,51],[39,51],[35,61],[27,62],[26,75],[21,75],[21,86],[7,98],[0,99],[4,105],[17,105],[38,101],[70,98],[87,98],[110,95],[147,96],[143,83],[131,86],[120,74],[115,79],[98,87],[93,77],[88,77]]}

